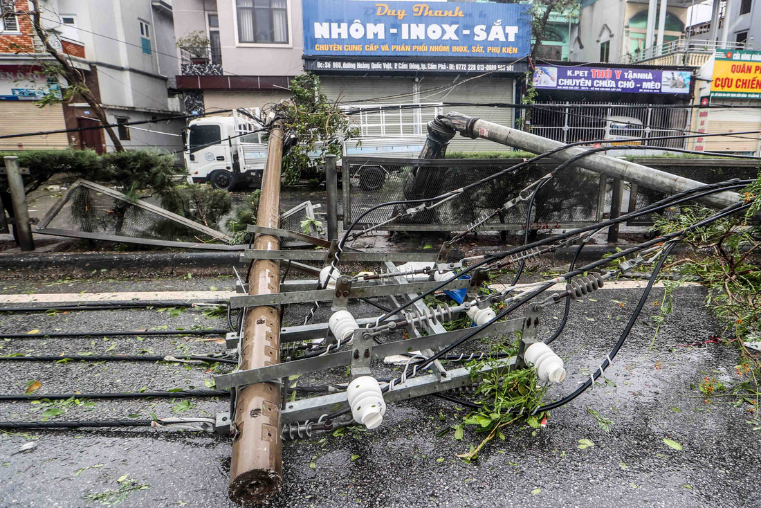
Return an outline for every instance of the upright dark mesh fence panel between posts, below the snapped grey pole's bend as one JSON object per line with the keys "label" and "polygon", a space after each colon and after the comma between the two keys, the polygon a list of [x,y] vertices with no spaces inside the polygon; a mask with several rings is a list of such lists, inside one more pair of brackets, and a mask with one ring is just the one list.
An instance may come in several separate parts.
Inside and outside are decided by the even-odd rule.
{"label": "upright dark mesh fence panel between posts, below the snapped grey pole's bend", "polygon": [[[417,200],[438,196],[495,174],[521,159],[389,159],[344,158],[344,227],[362,212],[387,201]],[[403,231],[463,231],[488,216],[524,187],[547,174],[556,164],[530,165],[479,187],[466,190],[453,200],[416,216],[384,225],[382,229]],[[347,188],[349,187],[349,188]],[[562,228],[571,224],[597,222],[600,175],[593,171],[566,168],[537,193],[531,214],[532,228]],[[358,225],[371,228],[409,206],[383,206]],[[521,203],[501,216],[489,219],[481,229],[506,230],[524,227],[527,204]]]}

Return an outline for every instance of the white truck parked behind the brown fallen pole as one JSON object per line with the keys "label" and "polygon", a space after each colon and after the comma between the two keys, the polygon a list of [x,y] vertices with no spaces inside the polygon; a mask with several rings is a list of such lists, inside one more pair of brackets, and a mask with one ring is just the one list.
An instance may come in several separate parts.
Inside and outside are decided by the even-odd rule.
{"label": "white truck parked behind the brown fallen pole", "polygon": [[[261,185],[267,158],[265,133],[257,132],[261,129],[260,123],[249,115],[259,117],[260,112],[258,109],[236,110],[229,117],[190,120],[184,152],[189,184],[208,183],[222,190]],[[422,123],[423,119],[419,120]],[[389,131],[385,128],[382,133],[373,132],[369,136],[365,132],[367,129],[361,138],[343,143],[343,155],[417,157],[425,142],[424,125],[416,126],[412,134],[404,132],[401,126],[399,133],[394,131],[395,136],[387,136]]]}

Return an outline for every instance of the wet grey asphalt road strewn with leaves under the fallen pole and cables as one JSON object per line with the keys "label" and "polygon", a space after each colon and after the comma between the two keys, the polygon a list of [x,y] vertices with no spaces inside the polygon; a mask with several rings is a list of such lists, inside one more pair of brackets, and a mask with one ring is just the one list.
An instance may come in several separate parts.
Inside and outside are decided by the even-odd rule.
{"label": "wet grey asphalt road strewn with leaves under the fallen pole and cables", "polygon": [[[6,293],[139,290],[142,286],[231,289],[232,280],[69,281],[54,287],[22,280],[0,283]],[[572,306],[568,327],[553,344],[565,359],[568,378],[552,388],[550,398],[572,391],[596,368],[629,318],[640,291],[603,289],[592,295],[596,301],[587,299]],[[546,428],[511,427],[504,442],[490,443],[469,465],[455,455],[466,452],[470,443],[477,444],[478,435],[467,429],[462,442],[455,441],[452,432],[437,436],[458,423],[465,411],[437,398],[396,404],[389,408],[380,430],[346,430],[339,437],[320,435],[284,444],[284,486],[269,506],[757,506],[761,434],[747,423],[752,416],[749,406],[734,407],[722,398],[705,404],[699,392],[690,388],[705,375],[737,382],[737,354],[721,344],[670,346],[721,333],[721,326],[703,307],[705,294],[699,288],[677,289],[674,313],[650,349],[651,316],[658,312],[651,302],[661,296],[662,291],[654,289],[642,318],[605,373],[608,381],[598,382],[594,390],[552,411]],[[551,333],[561,310],[559,306],[546,310],[540,324],[543,334]],[[303,312],[291,308],[285,321],[294,323]],[[358,313],[373,315],[374,311],[363,306]],[[325,314],[323,306],[318,319],[326,319]],[[13,314],[0,315],[0,332],[223,327],[223,323],[197,311],[172,316],[155,309]],[[224,350],[224,344],[214,340],[182,337],[23,339],[0,345],[5,355],[105,353],[111,347],[108,354]],[[3,362],[2,369],[2,393],[14,394],[24,393],[27,382],[34,379],[42,383],[38,393],[51,393],[204,388],[212,376],[205,367],[154,363]],[[331,372],[328,377],[345,379],[345,374]],[[316,379],[324,382],[326,378]],[[302,378],[299,382],[312,381]],[[200,417],[228,409],[227,400],[197,399],[187,411],[176,413],[173,408],[178,402],[71,404],[53,420],[122,419],[130,414],[149,418],[151,412],[159,417]],[[42,409],[28,402],[3,402],[0,420],[39,420]],[[609,431],[600,427],[589,409],[613,422]],[[37,446],[18,452],[29,438]],[[664,438],[677,441],[683,449],[671,449]],[[594,446],[579,449],[579,439],[590,439]],[[88,501],[88,495],[120,485],[135,490],[125,492],[119,506],[235,506],[227,499],[230,454],[228,438],[200,433],[151,429],[0,433],[0,506],[103,506]]]}

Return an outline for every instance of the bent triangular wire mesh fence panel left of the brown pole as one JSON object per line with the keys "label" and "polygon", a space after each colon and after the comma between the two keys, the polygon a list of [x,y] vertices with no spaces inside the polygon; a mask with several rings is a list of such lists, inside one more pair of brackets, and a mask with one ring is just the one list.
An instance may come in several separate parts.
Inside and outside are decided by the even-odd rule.
{"label": "bent triangular wire mesh fence panel left of the brown pole", "polygon": [[58,211],[41,224],[43,229],[162,241],[215,240],[204,232],[84,185],[72,187],[62,199],[64,202]]}

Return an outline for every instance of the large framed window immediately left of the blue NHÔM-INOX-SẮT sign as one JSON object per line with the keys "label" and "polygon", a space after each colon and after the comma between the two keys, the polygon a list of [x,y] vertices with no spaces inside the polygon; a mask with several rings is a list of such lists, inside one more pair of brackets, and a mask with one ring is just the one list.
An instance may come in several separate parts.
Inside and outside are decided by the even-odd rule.
{"label": "large framed window immediately left of the blue NH\u00d4M-INOX-S\u1eaeT sign", "polygon": [[235,10],[239,43],[288,43],[288,0],[235,0]]}

